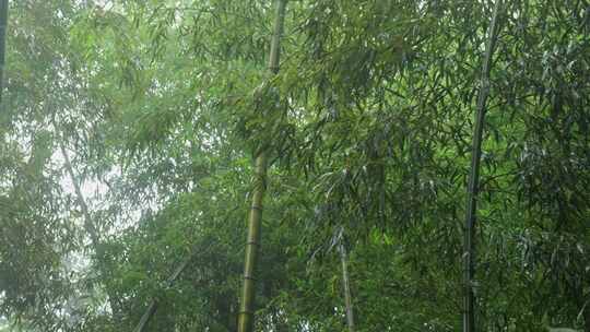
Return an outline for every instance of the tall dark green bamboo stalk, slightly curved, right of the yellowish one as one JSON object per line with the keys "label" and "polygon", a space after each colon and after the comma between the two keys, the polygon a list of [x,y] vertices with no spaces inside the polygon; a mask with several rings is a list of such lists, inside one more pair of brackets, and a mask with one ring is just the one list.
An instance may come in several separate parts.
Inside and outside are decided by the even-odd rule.
{"label": "tall dark green bamboo stalk, slightly curved, right of the yellowish one", "polygon": [[488,28],[488,40],[483,61],[482,76],[480,81],[480,93],[477,96],[477,109],[475,128],[473,131],[473,146],[471,155],[471,169],[469,174],[465,229],[464,229],[464,294],[463,294],[463,332],[475,331],[475,295],[473,292],[474,262],[475,262],[475,218],[477,211],[477,191],[480,180],[480,159],[482,154],[482,137],[485,124],[486,100],[489,94],[489,68],[492,55],[496,44],[497,16],[502,0],[496,0],[494,14]]}

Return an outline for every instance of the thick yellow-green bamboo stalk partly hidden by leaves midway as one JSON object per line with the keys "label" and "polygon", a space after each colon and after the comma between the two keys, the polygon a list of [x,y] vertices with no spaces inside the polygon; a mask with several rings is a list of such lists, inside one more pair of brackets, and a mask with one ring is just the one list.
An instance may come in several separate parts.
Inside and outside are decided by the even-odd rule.
{"label": "thick yellow-green bamboo stalk partly hidden by leaves midway", "polygon": [[[269,57],[269,71],[275,74],[279,71],[280,40],[283,32],[286,0],[278,0],[274,34],[271,40]],[[267,152],[260,151],[255,162],[255,187],[252,205],[248,218],[248,239],[246,242],[246,259],[244,264],[244,286],[239,306],[238,332],[253,330],[256,268],[258,249],[260,246],[260,225],[262,221],[262,202],[267,186]]]}

